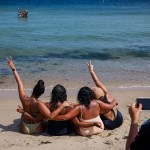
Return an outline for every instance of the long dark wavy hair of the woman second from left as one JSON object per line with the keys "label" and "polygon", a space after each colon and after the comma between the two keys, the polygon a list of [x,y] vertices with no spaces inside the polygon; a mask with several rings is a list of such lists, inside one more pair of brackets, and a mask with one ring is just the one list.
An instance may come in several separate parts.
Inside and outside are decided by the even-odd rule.
{"label": "long dark wavy hair of the woman second from left", "polygon": [[54,110],[57,108],[57,103],[58,102],[64,102],[67,100],[67,92],[64,86],[57,84],[51,93],[51,100],[50,103],[51,108]]}

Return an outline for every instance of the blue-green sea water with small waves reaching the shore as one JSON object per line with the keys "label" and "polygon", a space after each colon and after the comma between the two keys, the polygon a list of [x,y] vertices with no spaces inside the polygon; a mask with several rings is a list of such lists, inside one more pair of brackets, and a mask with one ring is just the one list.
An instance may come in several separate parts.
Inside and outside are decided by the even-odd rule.
{"label": "blue-green sea water with small waves reaching the shore", "polygon": [[150,86],[150,5],[0,6],[0,88],[13,88],[12,56],[27,88],[93,86],[86,62],[107,86]]}

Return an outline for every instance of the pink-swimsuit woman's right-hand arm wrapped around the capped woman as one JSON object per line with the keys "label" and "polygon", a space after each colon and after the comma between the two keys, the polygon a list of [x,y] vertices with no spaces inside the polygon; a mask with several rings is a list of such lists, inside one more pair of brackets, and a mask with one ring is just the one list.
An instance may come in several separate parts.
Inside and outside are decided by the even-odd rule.
{"label": "pink-swimsuit woman's right-hand arm wrapped around the capped woman", "polygon": [[112,102],[110,102],[110,104],[104,103],[100,100],[97,100],[97,103],[100,106],[100,114],[107,113],[108,111],[110,111],[117,105],[117,102],[115,99]]}

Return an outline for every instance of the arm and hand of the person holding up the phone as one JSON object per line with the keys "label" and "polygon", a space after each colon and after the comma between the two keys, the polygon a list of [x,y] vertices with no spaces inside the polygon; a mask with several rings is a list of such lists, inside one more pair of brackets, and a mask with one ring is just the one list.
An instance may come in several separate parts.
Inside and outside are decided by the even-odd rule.
{"label": "arm and hand of the person holding up the phone", "polygon": [[140,113],[142,105],[139,104],[139,107],[135,107],[136,104],[133,103],[129,108],[129,114],[131,117],[130,131],[126,142],[126,150],[130,149],[131,143],[135,141],[135,137],[138,135],[138,122],[140,118]]}

